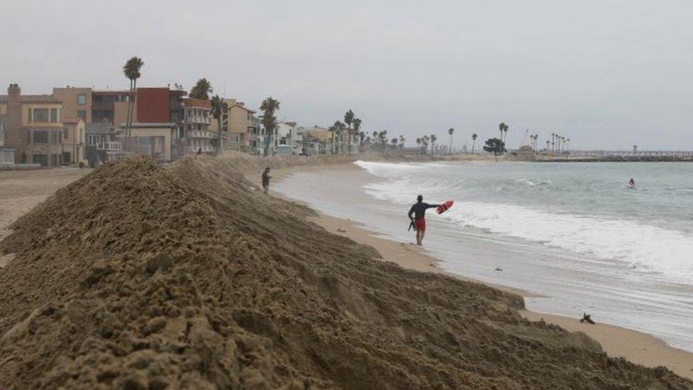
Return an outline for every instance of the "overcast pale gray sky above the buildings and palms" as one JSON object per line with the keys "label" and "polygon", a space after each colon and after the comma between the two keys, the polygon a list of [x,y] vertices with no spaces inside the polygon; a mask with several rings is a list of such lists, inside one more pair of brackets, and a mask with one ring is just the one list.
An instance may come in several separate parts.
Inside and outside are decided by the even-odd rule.
{"label": "overcast pale gray sky above the buildings and palms", "polygon": [[[200,77],[280,117],[461,146],[510,126],[574,148],[693,149],[693,1],[0,0],[0,83],[50,93]],[[3,92],[4,93],[4,92]],[[471,141],[470,141],[471,143]]]}

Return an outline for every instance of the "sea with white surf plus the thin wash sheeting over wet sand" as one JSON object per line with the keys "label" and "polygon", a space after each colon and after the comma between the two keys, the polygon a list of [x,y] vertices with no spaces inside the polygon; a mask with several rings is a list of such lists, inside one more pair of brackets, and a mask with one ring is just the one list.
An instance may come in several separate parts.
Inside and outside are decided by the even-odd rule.
{"label": "sea with white surf plus the thin wash sheeting over wet sand", "polygon": [[693,352],[693,164],[356,165],[365,173],[295,173],[275,189],[400,242],[413,241],[416,195],[454,200],[427,214],[425,249],[445,271],[541,294],[525,298],[530,310],[591,313]]}

